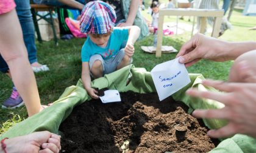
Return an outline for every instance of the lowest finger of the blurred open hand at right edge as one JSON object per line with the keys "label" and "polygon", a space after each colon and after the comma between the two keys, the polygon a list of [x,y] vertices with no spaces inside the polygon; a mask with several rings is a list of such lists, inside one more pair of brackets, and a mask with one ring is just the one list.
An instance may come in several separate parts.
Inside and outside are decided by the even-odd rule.
{"label": "lowest finger of the blurred open hand at right edge", "polygon": [[235,127],[229,123],[227,126],[221,127],[220,129],[210,130],[207,135],[213,138],[229,137],[230,135],[236,134]]}

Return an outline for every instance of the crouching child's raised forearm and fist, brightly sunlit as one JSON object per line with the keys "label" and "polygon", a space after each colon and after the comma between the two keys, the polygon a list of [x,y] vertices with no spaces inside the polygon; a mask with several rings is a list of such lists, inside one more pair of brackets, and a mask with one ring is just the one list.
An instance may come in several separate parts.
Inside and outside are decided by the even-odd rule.
{"label": "crouching child's raised forearm and fist, brightly sunlit", "polygon": [[140,36],[140,28],[136,25],[132,25],[127,28],[128,28],[128,32],[129,32],[129,37],[127,40],[126,47],[124,48],[124,52],[126,52],[126,55],[131,57],[134,53],[133,44]]}

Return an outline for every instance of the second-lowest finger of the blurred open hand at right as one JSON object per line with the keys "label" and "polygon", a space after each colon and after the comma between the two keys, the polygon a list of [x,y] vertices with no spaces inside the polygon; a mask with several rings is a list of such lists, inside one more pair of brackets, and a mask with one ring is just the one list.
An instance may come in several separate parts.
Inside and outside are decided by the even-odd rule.
{"label": "second-lowest finger of the blurred open hand at right", "polygon": [[215,119],[229,119],[229,111],[226,108],[223,109],[204,109],[194,110],[192,115],[196,118],[215,118]]}

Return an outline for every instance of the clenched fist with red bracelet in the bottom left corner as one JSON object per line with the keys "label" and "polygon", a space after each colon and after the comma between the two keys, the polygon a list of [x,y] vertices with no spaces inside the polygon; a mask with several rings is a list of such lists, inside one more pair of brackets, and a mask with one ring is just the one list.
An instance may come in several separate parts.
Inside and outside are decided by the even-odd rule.
{"label": "clenched fist with red bracelet in the bottom left corner", "polygon": [[6,139],[7,152],[59,152],[60,136],[48,131]]}

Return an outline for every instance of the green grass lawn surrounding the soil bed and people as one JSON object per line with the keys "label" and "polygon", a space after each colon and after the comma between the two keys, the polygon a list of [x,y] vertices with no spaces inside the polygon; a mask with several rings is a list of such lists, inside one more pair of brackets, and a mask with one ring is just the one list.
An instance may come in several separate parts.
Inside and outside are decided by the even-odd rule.
{"label": "green grass lawn surrounding the soil bed and people", "polygon": [[[151,19],[146,10],[143,11],[143,15],[147,19]],[[175,21],[176,17],[165,19],[165,22]],[[256,17],[242,16],[240,10],[234,10],[230,21],[233,25],[233,30],[227,30],[219,39],[227,41],[256,41],[256,30],[248,30],[249,27],[256,26]],[[188,22],[187,17],[179,22],[191,24],[191,22]],[[190,39],[190,32],[182,35],[165,36],[163,45],[173,46],[179,50],[188,39]],[[42,64],[48,64],[50,68],[49,72],[35,74],[41,103],[48,104],[57,100],[66,87],[77,83],[81,73],[80,49],[84,41],[85,39],[59,40],[59,46],[55,46],[53,41],[41,44],[37,42],[38,61]],[[145,67],[150,71],[156,64],[175,58],[176,53],[162,54],[161,58],[155,58],[154,54],[144,53],[140,49],[140,46],[152,46],[152,44],[152,35],[135,43],[133,64],[136,67]],[[227,80],[231,65],[232,61],[215,63],[202,60],[189,67],[188,72],[202,73],[205,78]],[[13,84],[7,75],[0,73],[0,78],[0,104],[2,104],[6,98],[9,98]],[[10,127],[26,118],[27,112],[24,106],[13,110],[0,109],[0,134],[3,134]]]}

